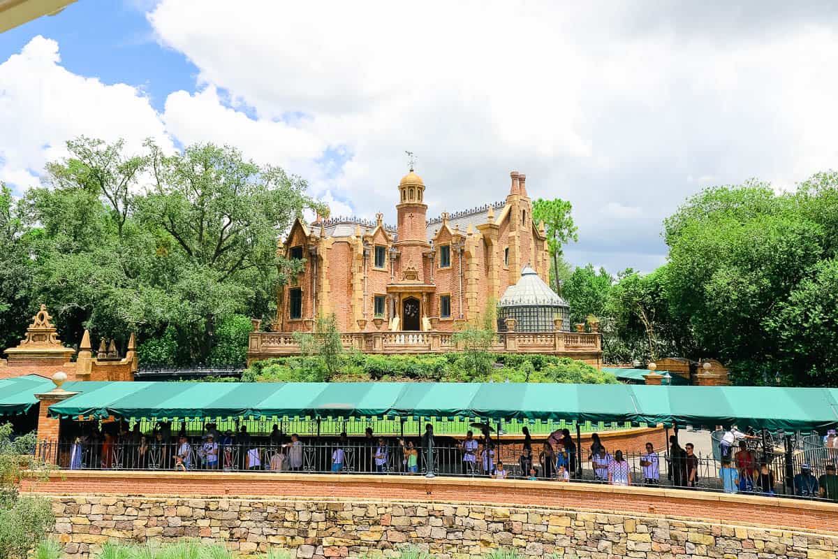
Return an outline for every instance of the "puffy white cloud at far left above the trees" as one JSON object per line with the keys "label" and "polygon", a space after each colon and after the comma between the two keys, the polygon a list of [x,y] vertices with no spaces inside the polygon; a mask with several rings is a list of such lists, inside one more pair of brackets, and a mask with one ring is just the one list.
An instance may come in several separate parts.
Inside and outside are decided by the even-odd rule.
{"label": "puffy white cloud at far left above the trees", "polygon": [[65,142],[80,135],[123,137],[132,150],[146,137],[171,145],[140,91],[72,74],[59,45],[40,35],[0,64],[0,131],[0,180],[18,190],[38,184],[44,163],[64,157]]}

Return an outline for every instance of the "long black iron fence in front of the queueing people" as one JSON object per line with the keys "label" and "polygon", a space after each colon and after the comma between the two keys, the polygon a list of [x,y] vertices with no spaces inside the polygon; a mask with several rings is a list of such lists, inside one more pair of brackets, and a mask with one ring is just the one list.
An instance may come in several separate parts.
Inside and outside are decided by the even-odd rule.
{"label": "long black iron fence in front of the queueing people", "polygon": [[[667,450],[649,454],[624,453],[623,463],[614,457],[592,457],[587,449],[577,453],[556,453],[534,444],[530,451],[519,442],[463,445],[450,439],[423,444],[422,439],[378,438],[370,441],[308,439],[297,441],[256,440],[244,443],[208,442],[200,438],[152,443],[87,441],[39,443],[40,458],[61,468],[99,470],[180,470],[215,472],[301,472],[309,474],[380,474],[499,476],[510,479],[585,481],[653,486],[684,487],[709,491],[773,494],[820,498],[815,489],[831,449],[811,449],[824,458],[812,464],[806,453],[753,453],[732,457],[727,470],[716,458],[687,456]],[[824,452],[826,454],[824,455]],[[838,452],[838,451],[836,451]],[[499,464],[504,467],[499,470]],[[764,464],[764,468],[763,468]],[[812,474],[801,474],[810,465]],[[610,479],[609,479],[610,474]],[[814,481],[813,481],[814,479]],[[838,495],[826,495],[838,500]]]}

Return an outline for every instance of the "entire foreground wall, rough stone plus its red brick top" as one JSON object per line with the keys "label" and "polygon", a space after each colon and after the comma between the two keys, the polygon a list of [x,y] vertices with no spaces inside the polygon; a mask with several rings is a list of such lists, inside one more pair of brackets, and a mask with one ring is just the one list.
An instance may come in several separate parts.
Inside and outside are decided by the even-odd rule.
{"label": "entire foreground wall, rough stone plus its red brick top", "polygon": [[[238,480],[230,482],[230,476]],[[65,488],[73,483],[70,477]],[[608,559],[835,559],[838,549],[838,506],[784,505],[760,497],[707,498],[687,491],[549,482],[376,483],[364,476],[285,474],[216,474],[228,483],[213,486],[200,474],[149,475],[165,492],[157,497],[147,484],[132,483],[137,479],[131,474],[109,477],[123,479],[122,495],[70,489],[53,497],[55,532],[70,557],[96,552],[108,540],[184,536],[225,541],[242,553],[282,546],[316,559],[366,551],[392,555],[408,543],[437,556],[463,558],[484,556],[496,547],[515,547],[528,556]],[[98,485],[101,481],[98,474],[85,485],[97,493],[114,489]],[[215,496],[198,496],[203,491]]]}

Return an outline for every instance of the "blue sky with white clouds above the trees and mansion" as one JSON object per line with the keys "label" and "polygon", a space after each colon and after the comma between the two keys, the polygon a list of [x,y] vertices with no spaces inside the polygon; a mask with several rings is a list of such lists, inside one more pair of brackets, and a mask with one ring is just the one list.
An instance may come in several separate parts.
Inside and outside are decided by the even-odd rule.
{"label": "blue sky with white clouds above the trees and mansion", "polygon": [[[79,135],[240,148],[332,215],[573,204],[574,265],[650,272],[701,189],[838,167],[838,3],[79,0],[0,34],[0,181]],[[235,9],[234,9],[235,8]]]}

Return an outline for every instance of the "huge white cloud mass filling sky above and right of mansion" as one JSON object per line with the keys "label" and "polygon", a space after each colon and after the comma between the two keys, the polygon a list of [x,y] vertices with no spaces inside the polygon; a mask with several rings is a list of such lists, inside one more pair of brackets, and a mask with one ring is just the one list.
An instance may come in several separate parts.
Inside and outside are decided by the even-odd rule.
{"label": "huge white cloud mass filling sky above and right of mansion", "polygon": [[[778,5],[771,17],[753,6],[756,23],[747,8],[690,17],[648,8],[312,2],[230,11],[163,0],[149,21],[202,83],[253,107],[260,122],[303,113],[297,133],[312,135],[303,145],[346,146],[342,171],[314,170],[312,182],[360,215],[392,216],[406,149],[418,154],[431,214],[502,199],[515,168],[533,196],[572,201],[579,263],[624,254],[630,265],[629,251],[655,255],[647,261],[665,254],[660,220],[685,196],[752,176],[793,184],[834,165],[838,149],[838,39],[822,17],[831,11]],[[178,129],[187,127],[200,129],[185,120]],[[247,128],[256,134],[252,121]],[[261,139],[282,145],[284,133]],[[603,215],[626,222],[621,241],[631,248],[603,238],[613,233],[599,226]]]}

